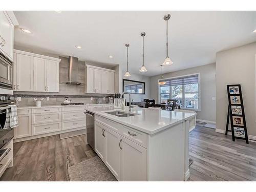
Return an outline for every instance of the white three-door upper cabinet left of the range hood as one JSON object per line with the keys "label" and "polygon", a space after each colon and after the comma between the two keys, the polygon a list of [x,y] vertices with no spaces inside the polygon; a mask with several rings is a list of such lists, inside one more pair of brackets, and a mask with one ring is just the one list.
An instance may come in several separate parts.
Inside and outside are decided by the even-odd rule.
{"label": "white three-door upper cabinet left of the range hood", "polygon": [[60,59],[14,50],[13,90],[59,92]]}

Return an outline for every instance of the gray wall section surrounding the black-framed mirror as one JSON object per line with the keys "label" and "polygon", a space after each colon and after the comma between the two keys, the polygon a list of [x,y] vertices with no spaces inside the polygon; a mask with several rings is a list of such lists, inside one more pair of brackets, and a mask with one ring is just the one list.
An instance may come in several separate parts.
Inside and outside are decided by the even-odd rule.
{"label": "gray wall section surrounding the black-framed mirror", "polygon": [[[147,76],[142,76],[140,74],[134,74],[131,73],[131,77],[124,77],[125,71],[122,72],[122,76],[120,79],[121,83],[121,91],[119,90],[120,93],[122,93],[123,90],[123,79],[130,79],[130,80],[135,80],[135,81],[142,81],[145,82],[145,94],[132,94],[131,99],[133,99],[134,102],[140,102],[141,99],[147,99],[151,98],[150,97],[150,77]],[[129,102],[129,95],[125,94],[124,98],[126,99],[126,102]]]}

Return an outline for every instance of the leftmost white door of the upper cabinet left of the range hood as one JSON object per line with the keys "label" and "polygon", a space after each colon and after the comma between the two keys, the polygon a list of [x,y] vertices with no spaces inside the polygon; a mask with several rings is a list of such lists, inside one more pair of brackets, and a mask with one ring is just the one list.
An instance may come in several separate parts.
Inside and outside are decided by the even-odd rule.
{"label": "leftmost white door of the upper cabinet left of the range hood", "polygon": [[34,57],[17,54],[17,91],[34,90]]}

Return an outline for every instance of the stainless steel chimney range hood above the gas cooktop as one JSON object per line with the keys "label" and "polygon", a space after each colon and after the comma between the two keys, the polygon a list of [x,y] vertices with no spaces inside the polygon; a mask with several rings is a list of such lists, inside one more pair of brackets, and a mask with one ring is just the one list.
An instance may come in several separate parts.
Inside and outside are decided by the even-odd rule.
{"label": "stainless steel chimney range hood above the gas cooktop", "polygon": [[67,84],[76,84],[77,86],[81,84],[78,82],[78,58],[69,56],[69,72]]}

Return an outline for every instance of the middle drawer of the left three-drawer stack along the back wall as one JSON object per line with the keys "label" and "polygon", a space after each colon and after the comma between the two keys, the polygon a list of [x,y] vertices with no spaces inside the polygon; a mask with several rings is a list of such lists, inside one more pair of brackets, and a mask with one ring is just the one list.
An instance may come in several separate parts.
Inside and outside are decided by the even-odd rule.
{"label": "middle drawer of the left three-drawer stack along the back wall", "polygon": [[32,124],[60,121],[60,113],[32,114]]}

